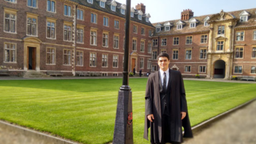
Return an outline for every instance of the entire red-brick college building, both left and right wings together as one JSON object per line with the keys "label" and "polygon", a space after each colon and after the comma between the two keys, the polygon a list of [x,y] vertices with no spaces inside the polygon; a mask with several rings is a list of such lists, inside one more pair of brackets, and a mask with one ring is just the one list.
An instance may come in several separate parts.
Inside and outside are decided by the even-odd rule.
{"label": "entire red-brick college building, both left and right wings together", "polygon": [[[115,0],[2,0],[0,67],[11,75],[31,70],[123,71],[125,4]],[[156,56],[167,52],[169,65],[184,77],[231,79],[256,76],[256,9],[151,24],[145,5],[131,9],[129,71],[158,68]]]}

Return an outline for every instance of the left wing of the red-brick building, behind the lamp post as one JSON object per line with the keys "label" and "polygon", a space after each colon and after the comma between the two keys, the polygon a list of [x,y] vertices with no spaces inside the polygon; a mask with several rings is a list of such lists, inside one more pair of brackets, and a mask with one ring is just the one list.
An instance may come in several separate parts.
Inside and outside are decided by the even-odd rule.
{"label": "left wing of the red-brick building, behind the lamp post", "polygon": [[[2,0],[0,66],[11,75],[30,70],[123,72],[126,5],[115,0]],[[150,71],[154,30],[145,6],[131,9],[129,69]],[[148,44],[149,43],[149,44]]]}

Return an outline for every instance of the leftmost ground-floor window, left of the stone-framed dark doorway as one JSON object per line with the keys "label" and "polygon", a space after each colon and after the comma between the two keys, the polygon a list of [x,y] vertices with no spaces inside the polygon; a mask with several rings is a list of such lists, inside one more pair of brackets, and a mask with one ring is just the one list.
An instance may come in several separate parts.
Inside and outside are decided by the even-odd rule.
{"label": "leftmost ground-floor window, left of the stone-framed dark doorway", "polygon": [[4,62],[16,62],[16,43],[4,43]]}

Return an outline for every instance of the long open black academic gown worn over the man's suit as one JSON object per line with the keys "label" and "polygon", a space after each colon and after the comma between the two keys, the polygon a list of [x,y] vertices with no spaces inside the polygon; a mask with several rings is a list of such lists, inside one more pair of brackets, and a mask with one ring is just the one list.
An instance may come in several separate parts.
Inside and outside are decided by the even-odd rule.
{"label": "long open black academic gown worn over the man's suit", "polygon": [[[160,99],[160,86],[159,72],[154,72],[149,75],[148,82],[145,90],[145,128],[144,138],[148,140],[148,128],[151,127],[151,143],[161,143],[161,99]],[[161,82],[161,80],[160,80]],[[191,124],[188,117],[188,106],[185,99],[185,88],[183,84],[183,77],[179,71],[169,69],[169,82],[167,89],[169,93],[169,117],[171,119],[170,134],[172,142],[182,143],[183,137],[193,137]],[[148,99],[149,98],[149,99]],[[186,112],[186,117],[181,120],[180,112]],[[153,114],[155,118],[150,122],[147,118],[148,114]],[[182,132],[184,128],[184,135]]]}

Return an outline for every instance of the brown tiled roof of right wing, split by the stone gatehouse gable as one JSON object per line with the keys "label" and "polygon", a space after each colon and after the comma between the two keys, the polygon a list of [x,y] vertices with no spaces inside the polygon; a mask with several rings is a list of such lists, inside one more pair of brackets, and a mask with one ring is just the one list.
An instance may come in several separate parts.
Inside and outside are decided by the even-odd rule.
{"label": "brown tiled roof of right wing, split by the stone gatehouse gable", "polygon": [[[231,14],[234,18],[240,18],[241,12],[248,12],[250,14],[248,21],[247,22],[238,22],[236,27],[250,27],[250,26],[256,26],[256,8],[255,9],[242,9],[239,11],[235,12],[226,12],[228,14]],[[184,33],[199,33],[199,32],[208,32],[209,31],[209,26],[204,26],[204,19],[206,17],[211,17],[214,14],[208,14],[208,15],[203,15],[199,17],[191,17],[195,18],[198,23],[196,23],[196,27],[191,28],[190,23],[188,20],[182,21],[185,23],[183,25],[182,30],[177,30],[177,22],[179,20],[169,20],[165,22],[158,22],[158,23],[153,23],[153,26],[156,27],[156,25],[162,25],[161,27],[161,32],[159,33],[154,33],[153,36],[164,36],[164,35],[179,35],[179,34],[184,34]],[[169,22],[172,26],[170,27],[169,31],[164,31],[164,23]]]}

